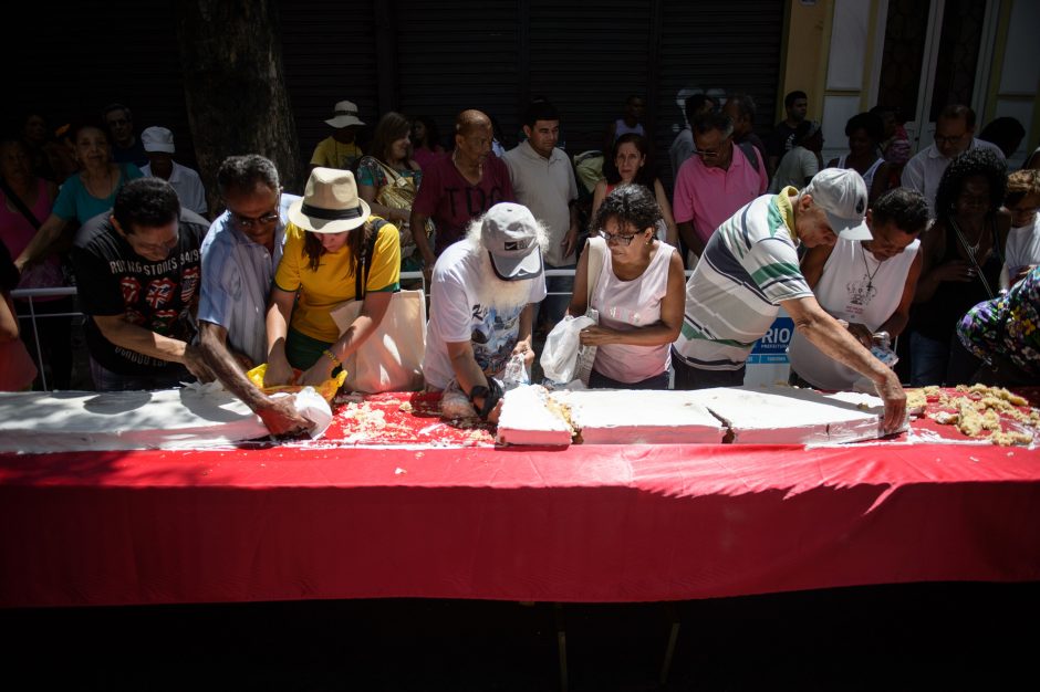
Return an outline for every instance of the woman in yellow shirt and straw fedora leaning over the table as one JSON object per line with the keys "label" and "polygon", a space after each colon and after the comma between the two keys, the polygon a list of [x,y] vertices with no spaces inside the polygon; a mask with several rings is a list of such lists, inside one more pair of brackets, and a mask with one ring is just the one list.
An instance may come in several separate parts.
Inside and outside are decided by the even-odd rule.
{"label": "woman in yellow shirt and straw fedora leaning over the table", "polygon": [[[383,321],[399,290],[397,229],[371,216],[349,170],[315,168],[303,199],[289,208],[285,249],[268,305],[268,369],[264,386],[329,379]],[[363,268],[370,243],[370,266]],[[340,332],[330,312],[357,297],[357,276],[367,276],[361,314]]]}

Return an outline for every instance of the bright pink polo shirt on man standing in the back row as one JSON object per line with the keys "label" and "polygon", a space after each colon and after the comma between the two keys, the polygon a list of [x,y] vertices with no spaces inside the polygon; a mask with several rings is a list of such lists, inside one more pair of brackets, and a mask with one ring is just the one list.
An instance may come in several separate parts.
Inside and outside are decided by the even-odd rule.
{"label": "bright pink polo shirt on man standing in the back row", "polygon": [[758,158],[758,170],[755,170],[736,144],[729,170],[709,168],[696,154],[686,159],[675,181],[675,200],[672,205],[675,222],[693,221],[697,235],[707,243],[724,221],[765,193],[769,185],[766,164],[758,149],[752,150]]}

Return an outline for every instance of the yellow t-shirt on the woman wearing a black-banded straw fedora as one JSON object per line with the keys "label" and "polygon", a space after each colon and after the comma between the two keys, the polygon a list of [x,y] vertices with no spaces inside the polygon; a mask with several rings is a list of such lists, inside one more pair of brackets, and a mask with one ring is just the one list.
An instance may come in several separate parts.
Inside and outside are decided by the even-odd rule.
{"label": "yellow t-shirt on the woman wearing a black-banded straw fedora", "polygon": [[[368,217],[368,222],[376,219]],[[358,228],[351,232],[361,230]],[[336,252],[326,252],[321,255],[318,271],[313,271],[303,252],[304,233],[292,223],[285,228],[285,250],[274,274],[274,285],[297,294],[290,326],[311,338],[331,343],[340,338],[340,329],[329,312],[340,303],[354,298],[354,253],[349,244]],[[375,241],[365,291],[398,291],[399,282],[401,241],[397,228],[393,223],[384,223]]]}

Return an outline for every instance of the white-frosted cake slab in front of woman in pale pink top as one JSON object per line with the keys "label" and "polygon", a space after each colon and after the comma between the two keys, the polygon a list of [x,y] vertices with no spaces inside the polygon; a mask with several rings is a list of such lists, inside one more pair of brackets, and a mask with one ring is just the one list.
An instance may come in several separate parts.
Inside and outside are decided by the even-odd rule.
{"label": "white-frosted cake slab in front of woman in pale pink top", "polygon": [[693,391],[586,389],[554,391],[587,444],[683,444],[722,441],[725,429]]}

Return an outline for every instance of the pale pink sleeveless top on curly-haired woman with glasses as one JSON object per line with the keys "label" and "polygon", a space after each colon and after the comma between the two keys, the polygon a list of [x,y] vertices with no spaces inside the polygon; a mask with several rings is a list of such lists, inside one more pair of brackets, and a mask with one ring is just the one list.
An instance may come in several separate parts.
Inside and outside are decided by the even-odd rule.
{"label": "pale pink sleeveless top on curly-haired woman with glasses", "polygon": [[[632,281],[622,281],[614,275],[614,264],[607,251],[606,263],[592,292],[592,306],[600,312],[600,324],[630,331],[659,322],[661,301],[668,292],[668,264],[673,252],[675,248],[659,243],[646,271]],[[672,344],[606,344],[596,349],[593,367],[611,379],[638,382],[667,371],[670,365]]]}

